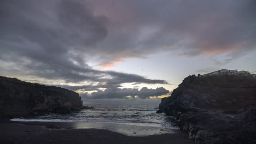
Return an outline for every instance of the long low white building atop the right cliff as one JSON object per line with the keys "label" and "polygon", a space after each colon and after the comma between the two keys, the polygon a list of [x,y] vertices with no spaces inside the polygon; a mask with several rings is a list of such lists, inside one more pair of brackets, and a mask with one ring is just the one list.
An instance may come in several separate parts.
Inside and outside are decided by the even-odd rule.
{"label": "long low white building atop the right cliff", "polygon": [[211,75],[243,75],[243,76],[252,76],[256,78],[256,74],[251,74],[249,73],[249,71],[245,71],[245,70],[237,71],[237,70],[229,70],[229,69],[221,69],[221,70],[213,71],[212,73],[203,74],[201,75],[201,77],[211,76]]}

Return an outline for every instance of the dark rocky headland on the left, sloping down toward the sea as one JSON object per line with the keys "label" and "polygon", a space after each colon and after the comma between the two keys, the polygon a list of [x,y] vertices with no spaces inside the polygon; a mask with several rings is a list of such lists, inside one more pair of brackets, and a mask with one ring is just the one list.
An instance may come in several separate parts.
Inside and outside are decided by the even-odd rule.
{"label": "dark rocky headland on the left, sloping down toward the sea", "polygon": [[83,108],[79,94],[68,89],[0,76],[0,117],[71,113]]}

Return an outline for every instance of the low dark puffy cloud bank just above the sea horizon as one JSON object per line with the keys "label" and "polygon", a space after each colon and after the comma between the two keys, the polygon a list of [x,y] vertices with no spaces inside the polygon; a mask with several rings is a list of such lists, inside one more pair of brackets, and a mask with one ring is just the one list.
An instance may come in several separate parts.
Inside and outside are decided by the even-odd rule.
{"label": "low dark puffy cloud bank just above the sea horizon", "polygon": [[138,96],[141,99],[146,99],[149,97],[158,97],[164,94],[169,93],[163,87],[156,89],[143,87],[141,90],[136,88],[107,88],[104,91],[98,90],[97,92],[92,92],[91,94],[80,94],[82,97],[91,98],[91,99],[126,99],[127,96],[134,98]]}

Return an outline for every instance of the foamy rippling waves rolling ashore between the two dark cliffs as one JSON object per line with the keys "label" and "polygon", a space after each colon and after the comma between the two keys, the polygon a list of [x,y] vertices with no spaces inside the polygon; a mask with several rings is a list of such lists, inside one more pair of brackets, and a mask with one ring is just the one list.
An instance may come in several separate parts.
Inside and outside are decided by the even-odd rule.
{"label": "foamy rippling waves rolling ashore between the two dark cliffs", "polygon": [[164,113],[156,113],[155,106],[91,105],[92,110],[82,110],[67,115],[50,114],[34,118],[13,118],[17,122],[95,122],[125,124],[142,127],[178,129]]}

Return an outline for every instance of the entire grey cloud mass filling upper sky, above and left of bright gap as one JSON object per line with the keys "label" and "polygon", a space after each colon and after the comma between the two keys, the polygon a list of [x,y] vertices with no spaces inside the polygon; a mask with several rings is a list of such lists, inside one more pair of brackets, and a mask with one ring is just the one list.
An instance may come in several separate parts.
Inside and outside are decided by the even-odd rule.
{"label": "entire grey cloud mass filling upper sky, above and left of bright gap", "polygon": [[2,0],[1,73],[104,85],[167,83],[95,70],[88,62],[172,51],[225,53],[224,61],[212,58],[223,65],[255,50],[255,7],[253,0]]}

